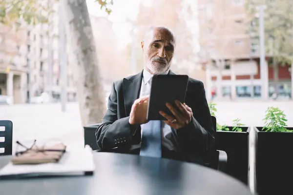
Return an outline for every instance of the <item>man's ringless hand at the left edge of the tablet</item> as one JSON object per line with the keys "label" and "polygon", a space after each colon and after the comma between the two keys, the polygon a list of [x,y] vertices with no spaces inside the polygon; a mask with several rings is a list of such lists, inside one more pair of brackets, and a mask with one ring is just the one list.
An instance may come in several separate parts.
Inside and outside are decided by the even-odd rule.
{"label": "man's ringless hand at the left edge of the tablet", "polygon": [[129,124],[141,125],[147,122],[147,104],[148,96],[138,98],[134,101],[129,115]]}

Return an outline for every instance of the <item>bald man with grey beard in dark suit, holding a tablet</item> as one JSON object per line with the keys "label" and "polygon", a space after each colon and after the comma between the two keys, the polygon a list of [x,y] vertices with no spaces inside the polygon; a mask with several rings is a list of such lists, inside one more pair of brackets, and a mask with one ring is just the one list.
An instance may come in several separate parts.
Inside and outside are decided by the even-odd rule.
{"label": "bald man with grey beard in dark suit, holding a tablet", "polygon": [[174,108],[166,102],[174,116],[160,112],[166,120],[147,121],[152,76],[174,75],[170,66],[175,38],[166,27],[151,27],[141,47],[144,70],[113,83],[108,109],[96,131],[98,151],[116,150],[202,164],[204,156],[214,150],[215,134],[203,83],[189,78],[185,103],[176,101]]}

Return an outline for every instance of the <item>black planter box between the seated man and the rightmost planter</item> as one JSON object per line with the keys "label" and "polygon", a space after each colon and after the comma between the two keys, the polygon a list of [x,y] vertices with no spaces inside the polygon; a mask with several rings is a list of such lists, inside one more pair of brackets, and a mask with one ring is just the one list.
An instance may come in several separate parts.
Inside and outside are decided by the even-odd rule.
{"label": "black planter box between the seated man and the rightmost planter", "polygon": [[[232,130],[232,127],[228,127]],[[225,173],[248,184],[248,151],[250,127],[241,127],[242,132],[217,131],[216,150],[227,153]]]}

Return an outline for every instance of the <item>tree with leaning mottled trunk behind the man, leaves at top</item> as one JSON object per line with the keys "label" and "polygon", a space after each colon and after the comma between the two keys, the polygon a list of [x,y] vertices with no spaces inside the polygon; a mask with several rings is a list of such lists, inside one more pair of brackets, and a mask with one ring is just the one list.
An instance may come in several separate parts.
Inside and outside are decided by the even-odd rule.
{"label": "tree with leaning mottled trunk behind the man, leaves at top", "polygon": [[[6,25],[26,22],[35,25],[42,20],[44,11],[51,11],[41,0],[4,0],[0,2],[0,21]],[[97,0],[101,9],[111,10],[107,0]],[[60,0],[64,3],[66,34],[71,43],[79,78],[78,97],[83,125],[101,120],[105,111],[105,95],[98,69],[98,59],[85,0]],[[73,14],[74,13],[74,14]],[[45,18],[45,17],[44,17]]]}

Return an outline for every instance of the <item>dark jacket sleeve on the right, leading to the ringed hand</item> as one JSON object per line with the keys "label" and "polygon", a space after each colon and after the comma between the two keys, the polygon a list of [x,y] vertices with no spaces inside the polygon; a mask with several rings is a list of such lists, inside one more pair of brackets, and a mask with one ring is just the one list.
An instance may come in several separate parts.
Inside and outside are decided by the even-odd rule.
{"label": "dark jacket sleeve on the right, leading to the ringed hand", "polygon": [[200,81],[194,89],[196,97],[192,99],[193,117],[191,122],[176,131],[179,144],[188,155],[205,155],[214,150],[215,132],[213,130],[209,106],[203,83]]}

